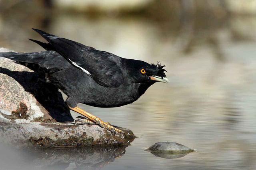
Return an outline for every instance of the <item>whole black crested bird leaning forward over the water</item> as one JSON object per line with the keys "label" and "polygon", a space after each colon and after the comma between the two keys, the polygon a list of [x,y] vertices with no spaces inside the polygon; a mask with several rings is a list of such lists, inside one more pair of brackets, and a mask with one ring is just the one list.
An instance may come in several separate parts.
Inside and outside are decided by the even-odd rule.
{"label": "whole black crested bird leaning forward over the water", "polygon": [[164,66],[124,59],[62,37],[34,29],[48,43],[34,41],[47,51],[34,53],[0,53],[44,75],[46,82],[68,96],[69,108],[84,117],[76,123],[98,124],[112,133],[123,133],[100,118],[77,107],[78,103],[95,107],[119,107],[130,104],[155,82],[168,83]]}

